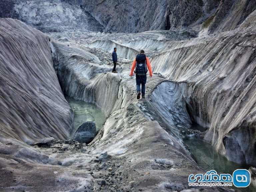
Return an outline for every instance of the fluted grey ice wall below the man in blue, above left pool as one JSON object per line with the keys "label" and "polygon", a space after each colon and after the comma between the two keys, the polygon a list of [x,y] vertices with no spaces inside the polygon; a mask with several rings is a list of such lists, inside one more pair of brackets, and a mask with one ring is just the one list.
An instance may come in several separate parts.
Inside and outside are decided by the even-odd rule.
{"label": "fluted grey ice wall below the man in blue, above left pool", "polygon": [[[121,107],[120,74],[106,73],[112,67],[97,64],[98,58],[86,48],[77,49],[59,42],[52,44],[54,63],[58,65],[58,78],[65,94],[96,104],[106,116]],[[88,61],[88,58],[91,59]],[[117,102],[120,97],[121,100]]]}

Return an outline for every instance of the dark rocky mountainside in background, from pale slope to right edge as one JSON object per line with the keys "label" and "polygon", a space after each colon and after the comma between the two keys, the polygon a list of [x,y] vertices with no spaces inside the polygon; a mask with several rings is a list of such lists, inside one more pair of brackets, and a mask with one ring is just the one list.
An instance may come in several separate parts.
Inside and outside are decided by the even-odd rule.
{"label": "dark rocky mountainside in background, from pale slope to right edge", "polygon": [[256,9],[255,0],[64,2],[82,5],[107,32],[130,33],[157,29],[189,30],[192,34],[229,31]]}

